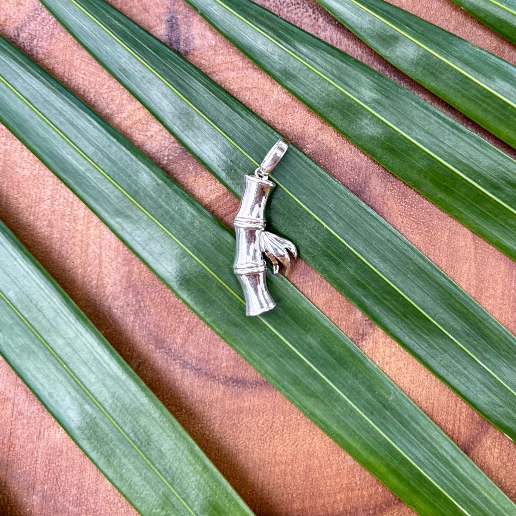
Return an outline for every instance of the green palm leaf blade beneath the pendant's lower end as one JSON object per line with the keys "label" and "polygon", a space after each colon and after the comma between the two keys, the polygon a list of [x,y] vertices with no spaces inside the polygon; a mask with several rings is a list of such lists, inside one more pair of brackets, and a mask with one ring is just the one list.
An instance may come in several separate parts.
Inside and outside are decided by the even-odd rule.
{"label": "green palm leaf blade beneath the pendant's lower end", "polygon": [[332,439],[420,514],[514,512],[509,499],[283,277],[268,280],[278,307],[246,318],[231,271],[234,235],[3,39],[0,62],[3,123]]}

